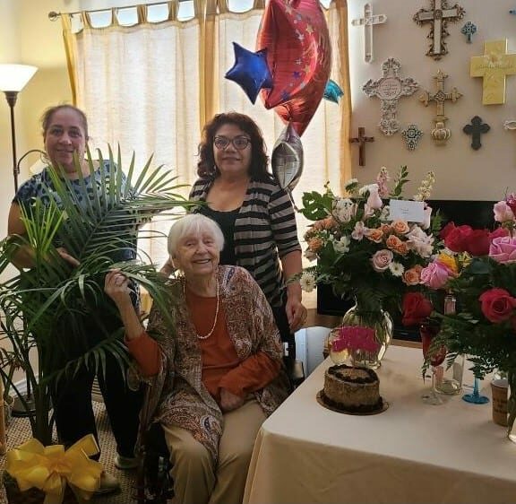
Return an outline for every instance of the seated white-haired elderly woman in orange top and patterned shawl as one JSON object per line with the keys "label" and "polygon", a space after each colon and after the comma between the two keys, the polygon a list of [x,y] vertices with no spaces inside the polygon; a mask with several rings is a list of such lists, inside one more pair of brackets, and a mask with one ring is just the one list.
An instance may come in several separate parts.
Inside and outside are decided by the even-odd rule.
{"label": "seated white-haired elderly woman in orange top and patterned shawl", "polygon": [[125,276],[106,277],[127,346],[155,376],[150,407],[165,431],[181,503],[242,502],[256,434],[288,395],[271,307],[244,268],[219,265],[223,245],[217,223],[201,214],[170,229],[168,253],[183,274],[170,284],[174,331],[157,308],[145,330]]}

